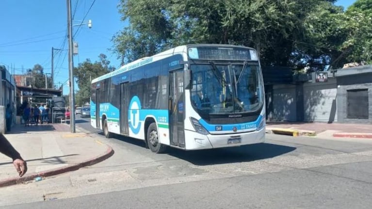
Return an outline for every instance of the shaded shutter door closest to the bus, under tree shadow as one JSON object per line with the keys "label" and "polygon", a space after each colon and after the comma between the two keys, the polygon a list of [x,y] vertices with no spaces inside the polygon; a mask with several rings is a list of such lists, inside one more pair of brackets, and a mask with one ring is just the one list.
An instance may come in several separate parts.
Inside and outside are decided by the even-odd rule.
{"label": "shaded shutter door closest to the bus, under tree shadow", "polygon": [[273,89],[273,120],[296,121],[296,88]]}

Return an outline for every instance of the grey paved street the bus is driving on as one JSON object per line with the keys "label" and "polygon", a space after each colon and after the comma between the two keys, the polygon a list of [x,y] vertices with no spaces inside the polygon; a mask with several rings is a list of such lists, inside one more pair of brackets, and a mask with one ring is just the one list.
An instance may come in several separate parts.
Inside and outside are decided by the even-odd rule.
{"label": "grey paved street the bus is driving on", "polygon": [[[85,121],[85,122],[84,122]],[[77,117],[78,127],[89,129]],[[101,141],[104,162],[0,188],[0,206],[28,208],[372,208],[372,140],[267,134],[264,144],[154,154],[127,137]]]}

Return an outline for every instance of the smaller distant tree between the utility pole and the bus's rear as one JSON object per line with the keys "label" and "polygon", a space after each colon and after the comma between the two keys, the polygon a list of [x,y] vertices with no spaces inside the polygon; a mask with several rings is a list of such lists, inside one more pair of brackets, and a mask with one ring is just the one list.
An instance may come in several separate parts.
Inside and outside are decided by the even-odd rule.
{"label": "smaller distant tree between the utility pole and the bus's rear", "polygon": [[110,66],[110,61],[107,60],[107,56],[100,54],[98,56],[99,61],[91,62],[90,59],[86,59],[82,63],[79,63],[78,67],[74,68],[74,76],[77,79],[79,91],[75,94],[75,100],[77,105],[83,105],[89,102],[90,98],[90,80],[101,75],[105,75],[115,70],[113,66]]}

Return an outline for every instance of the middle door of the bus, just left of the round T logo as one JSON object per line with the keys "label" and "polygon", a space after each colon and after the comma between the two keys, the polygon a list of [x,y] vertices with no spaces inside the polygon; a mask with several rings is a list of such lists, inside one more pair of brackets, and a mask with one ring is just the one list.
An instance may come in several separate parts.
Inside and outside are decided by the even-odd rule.
{"label": "middle door of the bus, just left of the round T logo", "polygon": [[120,84],[120,132],[129,134],[128,123],[129,109],[129,82]]}

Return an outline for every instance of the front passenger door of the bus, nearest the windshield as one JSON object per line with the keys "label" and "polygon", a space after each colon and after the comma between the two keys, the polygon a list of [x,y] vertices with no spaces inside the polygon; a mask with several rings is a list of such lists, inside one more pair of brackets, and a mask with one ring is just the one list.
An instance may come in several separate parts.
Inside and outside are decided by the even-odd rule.
{"label": "front passenger door of the bus, nearest the windshield", "polygon": [[169,73],[169,134],[171,145],[185,147],[183,69]]}

